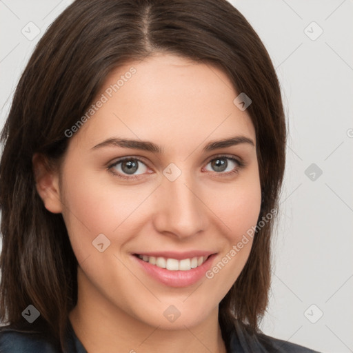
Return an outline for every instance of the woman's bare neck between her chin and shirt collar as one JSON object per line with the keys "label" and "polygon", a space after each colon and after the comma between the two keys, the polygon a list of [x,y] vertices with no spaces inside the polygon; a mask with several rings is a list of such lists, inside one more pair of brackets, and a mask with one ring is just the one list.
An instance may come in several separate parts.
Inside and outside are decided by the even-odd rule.
{"label": "woman's bare neck between her chin and shirt collar", "polygon": [[[79,286],[82,288],[83,283]],[[89,293],[85,295],[84,293]],[[77,338],[88,353],[226,353],[218,321],[218,307],[201,323],[179,325],[177,330],[153,327],[121,310],[100,292],[79,291],[77,306],[69,314]]]}

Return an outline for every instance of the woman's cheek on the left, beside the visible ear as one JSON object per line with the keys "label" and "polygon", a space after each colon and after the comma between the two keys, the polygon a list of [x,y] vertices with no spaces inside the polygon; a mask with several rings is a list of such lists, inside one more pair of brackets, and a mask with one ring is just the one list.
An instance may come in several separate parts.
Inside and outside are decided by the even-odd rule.
{"label": "woman's cheek on the left, beside the visible ear", "polygon": [[119,252],[121,245],[134,236],[131,234],[138,233],[134,230],[138,227],[137,219],[141,218],[139,205],[151,193],[148,188],[117,187],[114,182],[107,185],[99,173],[85,173],[83,166],[73,163],[67,165],[63,185],[63,218],[79,263],[97,253],[92,244],[97,236],[110,244],[104,251],[107,254]]}

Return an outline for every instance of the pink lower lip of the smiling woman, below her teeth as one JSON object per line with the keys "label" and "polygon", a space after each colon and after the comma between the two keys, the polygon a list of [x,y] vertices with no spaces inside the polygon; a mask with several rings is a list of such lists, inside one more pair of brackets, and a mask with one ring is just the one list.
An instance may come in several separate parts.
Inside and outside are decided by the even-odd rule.
{"label": "pink lower lip of the smiling woman, below her teeth", "polygon": [[208,259],[199,267],[192,268],[188,271],[170,271],[166,268],[159,268],[156,265],[152,265],[149,262],[139,259],[139,257],[132,255],[134,261],[137,261],[139,265],[157,281],[169,285],[170,287],[188,287],[205,276],[205,272],[210,270],[212,261],[216,254],[212,254]]}

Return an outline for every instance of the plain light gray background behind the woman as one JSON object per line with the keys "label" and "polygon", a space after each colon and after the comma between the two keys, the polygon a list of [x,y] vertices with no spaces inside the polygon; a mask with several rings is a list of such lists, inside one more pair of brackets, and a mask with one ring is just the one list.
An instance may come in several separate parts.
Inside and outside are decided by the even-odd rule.
{"label": "plain light gray background behind the woman", "polygon": [[[353,1],[231,2],[268,48],[289,128],[261,328],[321,352],[353,352]],[[1,127],[35,44],[70,3],[0,0]],[[32,41],[21,33],[30,21],[40,28]]]}

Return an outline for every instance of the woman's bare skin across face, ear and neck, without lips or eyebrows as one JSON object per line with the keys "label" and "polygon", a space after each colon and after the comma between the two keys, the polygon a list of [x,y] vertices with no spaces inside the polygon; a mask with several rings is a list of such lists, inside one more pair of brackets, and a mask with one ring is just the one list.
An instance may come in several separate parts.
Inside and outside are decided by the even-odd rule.
{"label": "woman's bare skin across face, ear and neck, without lips or eyebrows", "polygon": [[[35,156],[37,190],[47,210],[61,212],[79,262],[77,306],[70,321],[88,352],[225,352],[218,305],[241,273],[252,239],[212,279],[172,288],[143,272],[131,259],[138,250],[212,250],[219,263],[256,221],[261,188],[256,148],[240,143],[204,152],[210,141],[234,136],[254,141],[239,94],[218,68],[172,54],[155,54],[115,70],[103,90],[134,67],[137,72],[70,138],[59,170],[46,170]],[[110,146],[105,139],[152,141],[163,154]],[[225,176],[211,163],[229,159]],[[141,157],[134,175],[120,179],[120,157]],[[181,175],[170,181],[163,170],[174,163]],[[120,168],[119,168],[120,167]],[[125,171],[125,176],[127,168]],[[113,171],[113,172],[112,172]],[[123,172],[122,172],[123,173]],[[105,234],[110,246],[92,241]],[[213,267],[213,265],[212,265]],[[170,322],[163,312],[177,307]]]}

